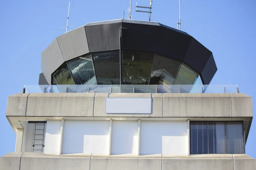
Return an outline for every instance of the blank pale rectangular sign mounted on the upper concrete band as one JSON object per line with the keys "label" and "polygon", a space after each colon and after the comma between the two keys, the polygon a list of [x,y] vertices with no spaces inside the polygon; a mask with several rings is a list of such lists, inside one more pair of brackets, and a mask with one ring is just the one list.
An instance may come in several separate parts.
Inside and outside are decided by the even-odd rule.
{"label": "blank pale rectangular sign mounted on the upper concrete band", "polygon": [[151,114],[151,98],[106,98],[105,113]]}

